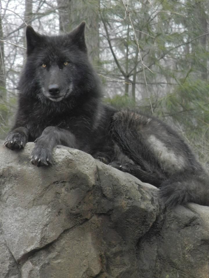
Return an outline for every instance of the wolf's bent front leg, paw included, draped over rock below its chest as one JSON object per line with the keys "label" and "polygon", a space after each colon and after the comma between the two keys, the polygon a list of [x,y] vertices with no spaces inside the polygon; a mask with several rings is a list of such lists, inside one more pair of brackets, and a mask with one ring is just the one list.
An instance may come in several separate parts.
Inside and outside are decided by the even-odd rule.
{"label": "wolf's bent front leg, paw included, draped over rock below its chest", "polygon": [[75,136],[70,131],[53,126],[46,127],[34,143],[30,162],[38,167],[52,164],[52,151],[56,145],[77,148]]}

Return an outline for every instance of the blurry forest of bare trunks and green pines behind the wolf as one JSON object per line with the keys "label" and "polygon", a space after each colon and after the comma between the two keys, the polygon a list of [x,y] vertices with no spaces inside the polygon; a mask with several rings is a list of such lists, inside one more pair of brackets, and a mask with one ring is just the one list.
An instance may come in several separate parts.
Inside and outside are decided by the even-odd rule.
{"label": "blurry forest of bare trunks and green pines behind the wolf", "polygon": [[12,127],[25,28],[70,32],[86,21],[104,101],[174,126],[209,167],[208,0],[1,0],[0,139]]}

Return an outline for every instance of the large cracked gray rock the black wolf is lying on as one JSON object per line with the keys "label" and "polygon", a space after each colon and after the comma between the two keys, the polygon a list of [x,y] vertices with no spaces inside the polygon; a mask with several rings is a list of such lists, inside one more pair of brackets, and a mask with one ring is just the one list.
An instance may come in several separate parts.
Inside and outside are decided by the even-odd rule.
{"label": "large cracked gray rock the black wolf is lying on", "polygon": [[90,155],[0,142],[0,277],[206,278],[209,208],[165,209],[158,189]]}

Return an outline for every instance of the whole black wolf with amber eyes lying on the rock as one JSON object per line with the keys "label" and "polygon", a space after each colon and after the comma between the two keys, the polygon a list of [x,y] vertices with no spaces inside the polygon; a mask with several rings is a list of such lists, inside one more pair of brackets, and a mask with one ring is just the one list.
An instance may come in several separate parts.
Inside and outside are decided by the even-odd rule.
{"label": "whole black wolf with amber eyes lying on the rock", "polygon": [[5,146],[24,148],[34,141],[31,162],[37,166],[52,163],[57,144],[76,148],[161,187],[167,206],[209,205],[208,175],[175,131],[156,118],[102,104],[84,26],[60,36],[27,27],[19,108]]}

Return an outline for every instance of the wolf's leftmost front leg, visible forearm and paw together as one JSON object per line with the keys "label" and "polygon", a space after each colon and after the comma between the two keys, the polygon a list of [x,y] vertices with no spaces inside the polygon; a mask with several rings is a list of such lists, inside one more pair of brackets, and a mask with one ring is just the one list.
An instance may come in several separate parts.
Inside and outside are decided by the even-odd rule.
{"label": "wolf's leftmost front leg, visible forearm and paw together", "polygon": [[28,141],[28,129],[26,127],[17,127],[7,135],[4,145],[11,149],[22,149]]}

